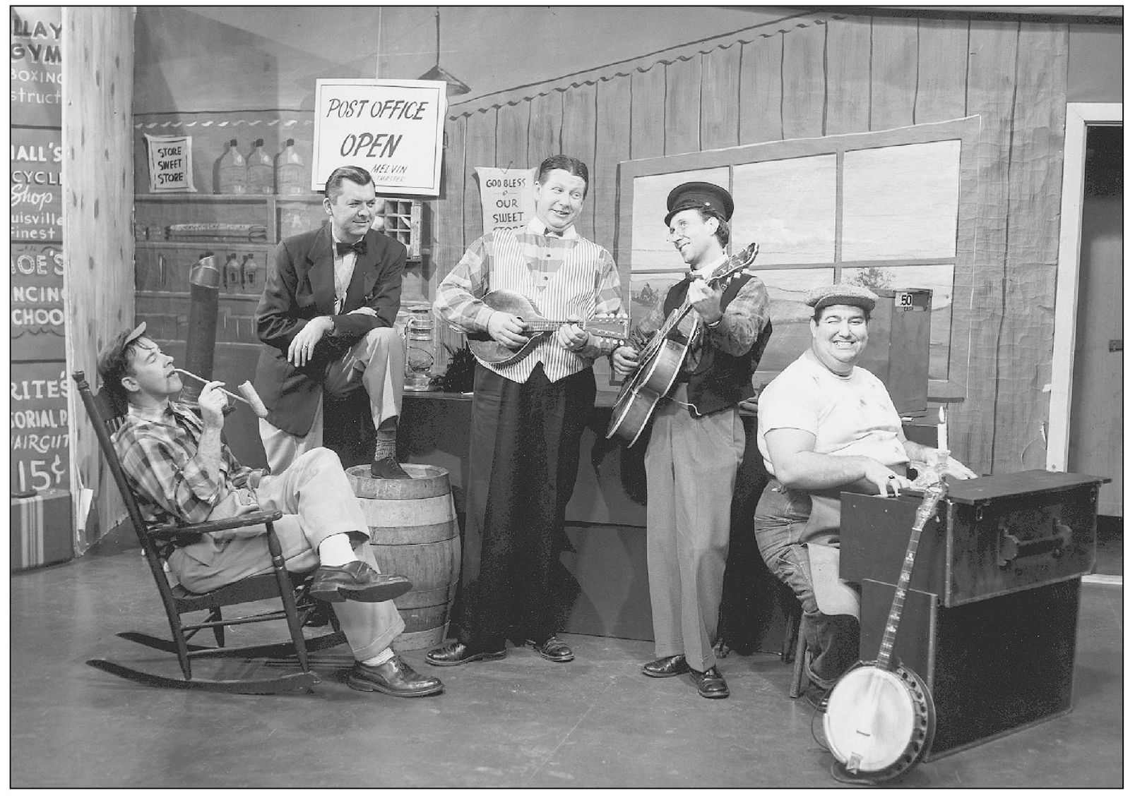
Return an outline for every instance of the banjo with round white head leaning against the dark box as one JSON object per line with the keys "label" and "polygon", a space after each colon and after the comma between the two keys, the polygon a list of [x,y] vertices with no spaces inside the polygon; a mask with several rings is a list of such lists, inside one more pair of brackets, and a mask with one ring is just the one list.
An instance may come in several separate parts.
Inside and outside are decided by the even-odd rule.
{"label": "banjo with round white head leaning against the dark box", "polygon": [[891,652],[923,526],[945,497],[941,480],[926,489],[915,514],[902,571],[874,662],[860,662],[835,683],[824,713],[827,748],[842,771],[869,781],[908,771],[934,739],[934,701],[922,678]]}

